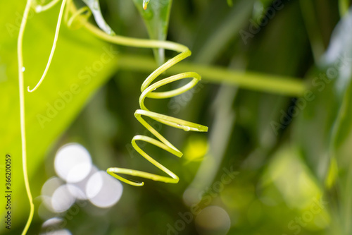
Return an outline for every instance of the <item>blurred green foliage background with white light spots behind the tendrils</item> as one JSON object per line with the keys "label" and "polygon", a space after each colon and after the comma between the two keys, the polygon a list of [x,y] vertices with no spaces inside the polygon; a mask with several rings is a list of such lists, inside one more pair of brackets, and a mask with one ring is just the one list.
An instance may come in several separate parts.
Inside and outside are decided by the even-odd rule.
{"label": "blurred green foliage background with white light spots behind the tendrils", "polygon": [[[59,5],[30,13],[25,88],[44,71]],[[63,23],[46,80],[25,94],[36,208],[28,234],[352,234],[349,5],[151,0],[142,11],[139,0],[102,0],[102,15],[116,34],[191,49],[192,56],[167,75],[196,71],[203,77],[178,97],[146,100],[153,112],[209,131],[151,121],[184,156],[145,145],[180,182],[145,181],[143,187],[121,184],[103,171],[160,174],[130,142],[137,133],[152,136],[133,114],[140,86],[164,52],[112,45]],[[16,53],[24,7],[25,1],[0,2],[0,234],[21,234],[29,214]],[[167,59],[175,55],[165,52]],[[11,230],[4,226],[6,154],[12,159]],[[69,179],[71,173],[78,178]]]}

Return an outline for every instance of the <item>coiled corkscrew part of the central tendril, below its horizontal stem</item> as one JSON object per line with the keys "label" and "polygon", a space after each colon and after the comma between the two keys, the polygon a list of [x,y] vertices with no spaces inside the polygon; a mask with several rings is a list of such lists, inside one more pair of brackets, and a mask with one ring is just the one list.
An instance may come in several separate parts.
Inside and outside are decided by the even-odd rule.
{"label": "coiled corkscrew part of the central tendril, below its horizontal stem", "polygon": [[[130,181],[128,179],[123,178],[122,176],[119,176],[118,174],[124,174],[124,175],[130,175],[130,176],[138,176],[142,177],[144,179],[151,179],[153,181],[161,181],[165,183],[177,183],[179,181],[179,177],[174,174],[172,171],[170,171],[168,168],[164,167],[162,164],[157,162],[155,159],[153,159],[150,155],[148,155],[146,152],[144,152],[138,145],[137,141],[144,141],[146,143],[150,143],[152,145],[155,145],[157,147],[160,147],[161,149],[168,151],[172,153],[173,155],[177,157],[182,157],[182,152],[178,150],[174,145],[172,145],[168,140],[166,140],[161,133],[158,133],[155,128],[153,128],[149,123],[147,123],[142,116],[148,116],[151,119],[154,119],[158,122],[161,122],[165,125],[172,126],[175,128],[183,129],[184,131],[208,131],[208,127],[202,126],[196,123],[191,123],[189,121],[184,121],[182,119],[177,119],[171,116],[163,115],[163,114],[158,114],[156,112],[151,112],[149,109],[147,109],[144,105],[144,99],[146,97],[152,98],[152,99],[164,99],[164,98],[170,98],[174,97],[176,95],[180,95],[183,92],[186,92],[187,90],[190,90],[191,88],[196,85],[196,83],[201,80],[201,76],[199,76],[198,73],[194,72],[187,72],[187,73],[180,73],[175,76],[170,76],[168,78],[163,78],[162,80],[159,80],[156,83],[153,83],[152,85],[149,85],[154,79],[156,79],[161,73],[166,71],[168,68],[170,68],[170,64],[176,64],[177,62],[181,61],[182,59],[186,58],[189,56],[191,52],[189,49],[187,49],[185,52],[182,52],[177,58],[175,56],[173,59],[170,59],[170,61],[166,62],[163,64],[161,67],[159,67],[154,73],[151,74],[146,80],[144,81],[142,85],[142,95],[139,97],[139,106],[141,109],[137,109],[136,112],[134,112],[134,116],[136,119],[142,123],[142,125],[150,131],[158,140],[154,138],[150,138],[149,136],[146,135],[135,135],[134,138],[132,138],[132,146],[134,149],[139,152],[140,155],[142,155],[145,159],[147,159],[151,164],[155,165],[158,167],[158,169],[161,169],[164,171],[168,176],[161,176],[161,175],[156,175],[156,174],[151,174],[147,173],[144,171],[137,171],[137,170],[132,170],[132,169],[124,169],[124,168],[118,168],[118,167],[111,167],[108,168],[107,172],[108,174],[111,174],[111,176],[114,176],[116,179],[119,179],[120,181],[123,181],[125,183],[129,183],[133,186],[143,186],[144,182],[136,182],[136,181]],[[180,59],[182,58],[182,59]],[[183,85],[181,88],[177,88],[175,90],[170,90],[167,92],[153,92],[153,90],[156,90],[158,88],[161,88],[161,86],[166,85],[168,83],[172,83],[176,80],[182,80],[185,78],[193,78],[189,83],[186,85]]]}

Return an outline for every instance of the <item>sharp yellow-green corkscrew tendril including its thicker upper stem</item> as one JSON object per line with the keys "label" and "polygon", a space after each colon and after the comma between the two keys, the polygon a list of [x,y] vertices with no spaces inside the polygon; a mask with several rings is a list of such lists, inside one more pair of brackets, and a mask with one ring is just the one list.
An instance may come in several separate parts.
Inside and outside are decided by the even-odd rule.
{"label": "sharp yellow-green corkscrew tendril including its thicker upper stem", "polygon": [[[144,9],[146,8],[148,3],[149,1],[144,1],[143,3]],[[75,9],[74,6],[73,6],[73,11],[77,12],[77,9]],[[84,11],[80,11],[80,12],[84,12]],[[74,14],[74,16],[78,17],[77,14]],[[137,152],[139,152],[140,155],[142,155],[145,159],[151,162],[151,164],[158,167],[158,169],[161,169],[162,171],[164,171],[165,174],[168,174],[169,177],[161,176],[157,174],[151,174],[145,171],[137,171],[134,169],[125,169],[125,168],[119,168],[119,167],[110,167],[107,169],[108,174],[132,186],[143,186],[144,182],[131,181],[129,179],[125,179],[124,177],[120,176],[120,174],[127,175],[127,176],[137,176],[144,179],[151,179],[153,181],[161,181],[165,183],[177,183],[179,181],[179,177],[176,174],[174,174],[172,171],[170,171],[168,168],[164,167],[162,164],[160,164],[155,159],[153,159],[146,152],[144,152],[137,145],[137,141],[144,141],[146,143],[150,143],[152,145],[160,147],[165,151],[172,153],[173,155],[176,155],[177,157],[182,157],[182,152],[180,152],[180,150],[178,150],[174,145],[172,145],[168,140],[166,140],[163,137],[163,135],[158,133],[158,131],[156,131],[149,123],[147,123],[143,119],[143,116],[148,116],[149,118],[154,119],[158,122],[164,123],[165,125],[183,129],[184,131],[200,131],[200,132],[208,131],[208,127],[206,126],[202,126],[197,123],[191,123],[189,121],[184,121],[182,119],[176,119],[171,116],[158,114],[156,112],[151,112],[144,105],[144,100],[146,97],[152,98],[152,99],[165,99],[165,98],[175,97],[177,95],[181,95],[184,92],[187,92],[187,90],[190,90],[191,88],[193,88],[194,85],[196,85],[196,83],[198,83],[199,80],[201,80],[201,76],[199,76],[198,73],[187,72],[187,73],[180,73],[175,76],[170,76],[168,78],[163,78],[162,80],[159,80],[158,82],[153,83],[151,85],[153,80],[158,78],[158,76],[160,76],[161,73],[164,73],[165,71],[168,70],[168,68],[174,66],[178,62],[190,56],[191,51],[184,45],[177,44],[175,42],[141,40],[141,39],[130,38],[130,37],[122,37],[119,35],[108,35],[106,32],[103,32],[102,30],[100,30],[99,28],[96,28],[96,26],[90,23],[85,22],[83,25],[85,28],[87,28],[87,30],[89,30],[89,32],[92,32],[92,34],[96,35],[96,37],[99,37],[101,38],[101,40],[105,40],[107,42],[120,44],[123,46],[130,46],[130,47],[170,49],[172,51],[180,53],[177,56],[173,57],[172,59],[169,59],[167,62],[165,62],[165,64],[157,68],[156,71],[153,71],[153,73],[151,73],[151,75],[148,78],[146,78],[146,80],[144,80],[144,83],[142,84],[142,88],[141,88],[142,95],[139,97],[140,109],[137,109],[137,111],[134,113],[134,116],[136,117],[136,119],[140,123],[142,123],[142,125],[148,131],[150,131],[154,136],[156,136],[158,140],[154,138],[150,138],[149,136],[146,136],[146,135],[135,135],[134,138],[132,138],[132,146]],[[193,78],[193,79],[186,85],[183,85],[181,88],[177,88],[175,90],[170,90],[166,92],[154,92],[154,90],[161,88],[163,85],[175,82],[177,80],[186,79],[186,78]]]}

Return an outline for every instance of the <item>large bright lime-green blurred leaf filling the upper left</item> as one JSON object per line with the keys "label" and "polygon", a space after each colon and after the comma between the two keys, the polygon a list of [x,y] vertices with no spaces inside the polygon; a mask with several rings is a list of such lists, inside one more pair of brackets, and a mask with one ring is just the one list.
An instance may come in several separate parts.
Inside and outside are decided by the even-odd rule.
{"label": "large bright lime-green blurred leaf filling the upper left", "polygon": [[[1,1],[5,9],[0,16],[0,154],[1,176],[5,155],[12,159],[13,227],[18,227],[27,217],[29,204],[23,183],[20,145],[20,107],[18,98],[18,73],[16,43],[21,13],[25,1]],[[42,76],[58,16],[58,7],[40,14],[30,13],[24,38],[25,90],[33,88]],[[43,171],[44,155],[50,145],[75,119],[87,99],[111,76],[116,52],[84,30],[68,30],[61,26],[58,45],[49,73],[42,86],[33,93],[25,92],[25,118],[27,132],[27,165],[30,176]],[[40,174],[40,173],[39,173]],[[32,182],[34,183],[34,182]],[[0,190],[4,192],[4,184]],[[34,198],[38,195],[34,194]],[[1,197],[0,205],[5,205]],[[1,215],[5,211],[1,206]],[[0,227],[3,234],[4,226]]]}

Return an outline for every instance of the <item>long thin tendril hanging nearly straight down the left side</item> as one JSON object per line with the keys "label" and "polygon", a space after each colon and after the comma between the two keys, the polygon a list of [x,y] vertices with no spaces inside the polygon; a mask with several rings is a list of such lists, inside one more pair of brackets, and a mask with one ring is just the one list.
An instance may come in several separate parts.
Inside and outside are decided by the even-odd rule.
{"label": "long thin tendril hanging nearly straight down the left side", "polygon": [[34,215],[34,204],[32,194],[30,193],[30,183],[28,181],[28,173],[27,173],[27,148],[26,148],[26,139],[25,139],[25,90],[23,84],[23,52],[22,52],[22,44],[23,44],[23,35],[25,32],[25,25],[27,23],[28,14],[30,12],[30,6],[32,4],[32,0],[28,0],[25,6],[25,13],[23,14],[23,18],[20,25],[20,32],[18,35],[17,42],[17,53],[18,53],[18,86],[20,90],[20,129],[21,129],[21,142],[22,142],[22,164],[23,164],[23,176],[25,179],[25,189],[27,191],[28,200],[30,201],[30,216],[28,217],[27,224],[23,229],[22,234],[27,234],[27,231],[30,227],[30,224]]}

